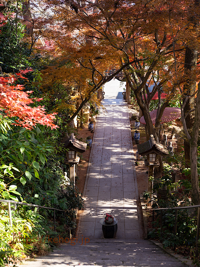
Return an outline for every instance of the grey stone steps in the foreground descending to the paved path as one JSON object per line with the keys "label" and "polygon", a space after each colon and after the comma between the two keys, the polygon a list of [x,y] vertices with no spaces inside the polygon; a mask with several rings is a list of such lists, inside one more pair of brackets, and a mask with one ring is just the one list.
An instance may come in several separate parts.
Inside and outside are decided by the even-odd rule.
{"label": "grey stone steps in the foreground descending to the paved path", "polygon": [[84,244],[83,238],[83,244],[81,243],[82,239],[81,241],[78,239],[74,245],[62,244],[60,249],[54,249],[47,256],[23,261],[19,266],[186,266],[149,240],[95,239]]}

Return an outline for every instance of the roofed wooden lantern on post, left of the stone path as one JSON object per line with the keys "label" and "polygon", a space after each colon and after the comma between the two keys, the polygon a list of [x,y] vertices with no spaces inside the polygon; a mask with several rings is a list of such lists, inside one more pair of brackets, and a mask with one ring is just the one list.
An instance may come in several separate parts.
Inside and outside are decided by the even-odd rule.
{"label": "roofed wooden lantern on post, left of the stone path", "polygon": [[64,142],[64,147],[67,149],[64,163],[69,164],[70,182],[73,182],[75,185],[75,164],[78,164],[80,160],[80,158],[77,156],[77,152],[85,152],[87,144],[79,141],[75,138],[74,134],[71,134],[70,138]]}

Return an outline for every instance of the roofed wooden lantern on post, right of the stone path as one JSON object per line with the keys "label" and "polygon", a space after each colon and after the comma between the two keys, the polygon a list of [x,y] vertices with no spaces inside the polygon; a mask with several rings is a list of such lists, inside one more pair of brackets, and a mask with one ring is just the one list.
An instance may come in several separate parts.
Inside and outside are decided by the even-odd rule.
{"label": "roofed wooden lantern on post, right of the stone path", "polygon": [[[137,145],[138,154],[141,156],[147,155],[147,158],[144,160],[145,166],[149,167],[148,177],[153,176],[153,168],[159,166],[158,154],[159,155],[168,155],[169,152],[167,147],[156,142],[151,134],[150,139],[142,144]],[[150,192],[150,199],[147,200],[147,206],[149,206],[148,202],[151,200],[152,196],[152,181],[148,181],[148,189],[147,192]]]}

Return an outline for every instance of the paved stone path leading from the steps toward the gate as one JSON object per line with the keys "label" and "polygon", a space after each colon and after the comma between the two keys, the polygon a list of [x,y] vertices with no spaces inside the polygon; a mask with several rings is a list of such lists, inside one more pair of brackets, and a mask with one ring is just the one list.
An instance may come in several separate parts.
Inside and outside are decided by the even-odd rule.
{"label": "paved stone path leading from the steps toward the gate", "polygon": [[77,235],[103,239],[100,219],[118,220],[116,239],[140,239],[135,158],[126,102],[105,99],[95,125]]}

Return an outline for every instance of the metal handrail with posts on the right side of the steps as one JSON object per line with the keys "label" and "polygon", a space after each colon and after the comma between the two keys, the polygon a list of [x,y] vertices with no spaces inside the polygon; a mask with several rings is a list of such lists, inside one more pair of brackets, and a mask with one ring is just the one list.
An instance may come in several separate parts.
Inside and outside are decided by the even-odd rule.
{"label": "metal handrail with posts on the right side of the steps", "polygon": [[[198,258],[198,249],[199,249],[199,228],[200,228],[200,205],[193,205],[193,206],[181,206],[181,207],[174,207],[174,208],[158,208],[158,209],[152,209],[153,214],[152,214],[152,220],[154,221],[154,210],[160,210],[160,233],[162,233],[162,211],[167,210],[167,209],[175,209],[175,225],[174,225],[174,234],[176,235],[177,231],[177,214],[178,214],[178,209],[193,209],[197,208],[197,229],[196,229],[196,248],[195,248],[195,257]],[[153,226],[153,223],[152,223]],[[154,227],[153,227],[154,228]],[[174,249],[175,249],[174,245]]]}

